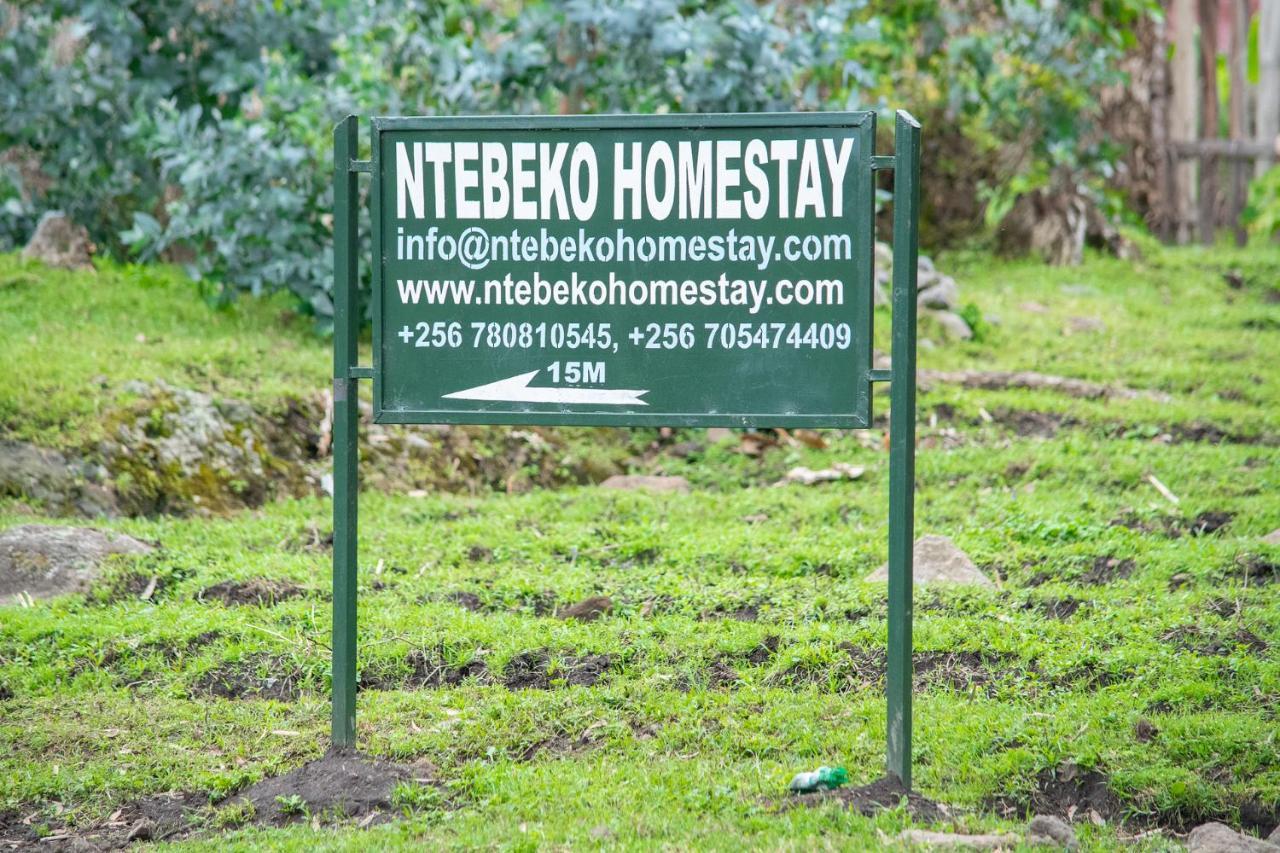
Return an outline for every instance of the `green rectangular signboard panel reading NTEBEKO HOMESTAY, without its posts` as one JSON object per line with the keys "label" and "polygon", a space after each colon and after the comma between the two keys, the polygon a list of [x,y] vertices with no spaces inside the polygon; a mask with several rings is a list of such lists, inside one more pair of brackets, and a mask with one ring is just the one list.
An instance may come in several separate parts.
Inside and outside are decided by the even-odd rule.
{"label": "green rectangular signboard panel reading NTEBEKO HOMESTAY, without its posts", "polygon": [[865,426],[872,132],[375,119],[378,419]]}

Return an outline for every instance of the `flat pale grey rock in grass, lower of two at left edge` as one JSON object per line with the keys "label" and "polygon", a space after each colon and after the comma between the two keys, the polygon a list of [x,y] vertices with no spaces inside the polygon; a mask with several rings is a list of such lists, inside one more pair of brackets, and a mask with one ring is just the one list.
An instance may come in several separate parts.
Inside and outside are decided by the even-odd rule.
{"label": "flat pale grey rock in grass, lower of two at left edge", "polygon": [[93,528],[24,524],[0,533],[0,602],[19,593],[51,598],[88,588],[111,555],[145,555],[154,547]]}

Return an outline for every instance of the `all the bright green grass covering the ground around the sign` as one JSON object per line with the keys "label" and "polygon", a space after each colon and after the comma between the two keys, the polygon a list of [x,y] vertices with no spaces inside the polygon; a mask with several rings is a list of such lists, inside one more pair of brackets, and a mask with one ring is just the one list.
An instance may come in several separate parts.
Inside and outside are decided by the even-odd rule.
{"label": "all the bright green grass covering the ground around the sign", "polygon": [[[1240,565],[1280,562],[1280,548],[1260,540],[1280,528],[1280,309],[1267,301],[1280,261],[1157,250],[1139,264],[1091,259],[1069,270],[984,255],[943,266],[991,324],[979,341],[923,351],[922,366],[1036,369],[1172,401],[946,386],[922,396],[916,530],[952,537],[1000,583],[918,589],[916,651],[972,654],[951,678],[923,679],[916,786],[952,806],[965,830],[1018,829],[987,804],[1025,797],[1064,762],[1105,774],[1135,822],[1276,809],[1280,587],[1245,584]],[[1224,282],[1228,269],[1245,273],[1243,289]],[[78,443],[95,407],[136,377],[253,400],[324,382],[324,343],[305,324],[282,332],[278,305],[214,313],[152,269],[95,278],[0,260],[6,275],[63,282],[0,287],[5,328],[40,329],[36,343],[12,333],[0,343],[10,361],[35,362],[0,393],[0,423],[18,437]],[[1028,301],[1046,311],[1019,307]],[[87,324],[59,314],[63,304]],[[1071,316],[1106,328],[1064,336]],[[56,330],[72,327],[92,345],[61,342]],[[140,333],[160,342],[137,343]],[[55,348],[42,350],[45,339]],[[188,361],[211,373],[186,373]],[[84,393],[99,373],[108,388]],[[1071,424],[1020,437],[1005,425],[1020,411]],[[1233,438],[1165,438],[1206,425]],[[863,818],[771,804],[792,774],[822,763],[844,765],[855,783],[882,772],[884,707],[867,661],[883,643],[884,590],[861,579],[884,558],[888,460],[879,430],[831,438],[827,450],[785,446],[762,459],[712,446],[636,461],[687,476],[687,496],[366,494],[361,676],[381,689],[360,694],[360,744],[430,762],[442,788],[401,790],[404,818],[367,830],[234,829],[237,816],[223,812],[206,830],[229,835],[186,844],[808,849],[893,836],[909,825],[900,811]],[[792,465],[837,460],[867,474],[772,487]],[[1207,510],[1234,519],[1206,537],[1160,529]],[[31,511],[0,505],[0,526],[29,523]],[[114,521],[161,551],[113,565],[88,596],[0,608],[0,685],[13,697],[0,702],[0,815],[20,807],[50,827],[92,825],[140,797],[218,798],[319,756],[329,556],[314,530],[329,528],[328,514],[325,501],[305,500],[223,519]],[[1153,530],[1112,524],[1121,517]],[[1133,560],[1130,574],[1091,583],[1105,557]],[[1187,578],[1171,584],[1175,575]],[[119,592],[132,576],[160,579],[152,601]],[[273,607],[197,601],[215,583],[252,578],[305,594]],[[479,610],[456,603],[458,592]],[[609,596],[613,613],[579,624],[548,612],[593,594]],[[1047,615],[1064,599],[1074,613]],[[741,608],[755,621],[722,617]],[[452,686],[406,689],[415,651],[445,667],[484,666]],[[508,689],[529,653],[549,661],[548,689]],[[608,656],[602,678],[571,684],[586,656]],[[726,667],[737,683],[717,680]],[[209,694],[229,678],[283,681],[291,698]],[[1139,719],[1156,726],[1152,740],[1135,736]],[[1137,831],[1088,820],[1076,829],[1102,849]]]}

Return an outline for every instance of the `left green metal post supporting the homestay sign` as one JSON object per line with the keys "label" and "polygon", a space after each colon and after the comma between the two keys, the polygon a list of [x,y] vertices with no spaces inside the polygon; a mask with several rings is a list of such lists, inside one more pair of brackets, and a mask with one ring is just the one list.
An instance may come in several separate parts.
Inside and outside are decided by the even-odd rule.
{"label": "left green metal post supporting the homestay sign", "polygon": [[358,120],[333,131],[333,745],[356,745],[356,512],[360,407],[355,201]]}

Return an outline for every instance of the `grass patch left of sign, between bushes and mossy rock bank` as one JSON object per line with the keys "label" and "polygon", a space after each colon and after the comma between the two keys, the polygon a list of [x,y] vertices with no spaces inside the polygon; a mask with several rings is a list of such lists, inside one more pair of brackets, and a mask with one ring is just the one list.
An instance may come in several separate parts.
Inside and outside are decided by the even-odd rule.
{"label": "grass patch left of sign, between bushes and mossy rock bank", "polygon": [[288,297],[212,309],[164,266],[100,263],[73,273],[0,255],[0,432],[91,446],[106,403],[131,380],[163,379],[274,402],[324,387],[325,342]]}

